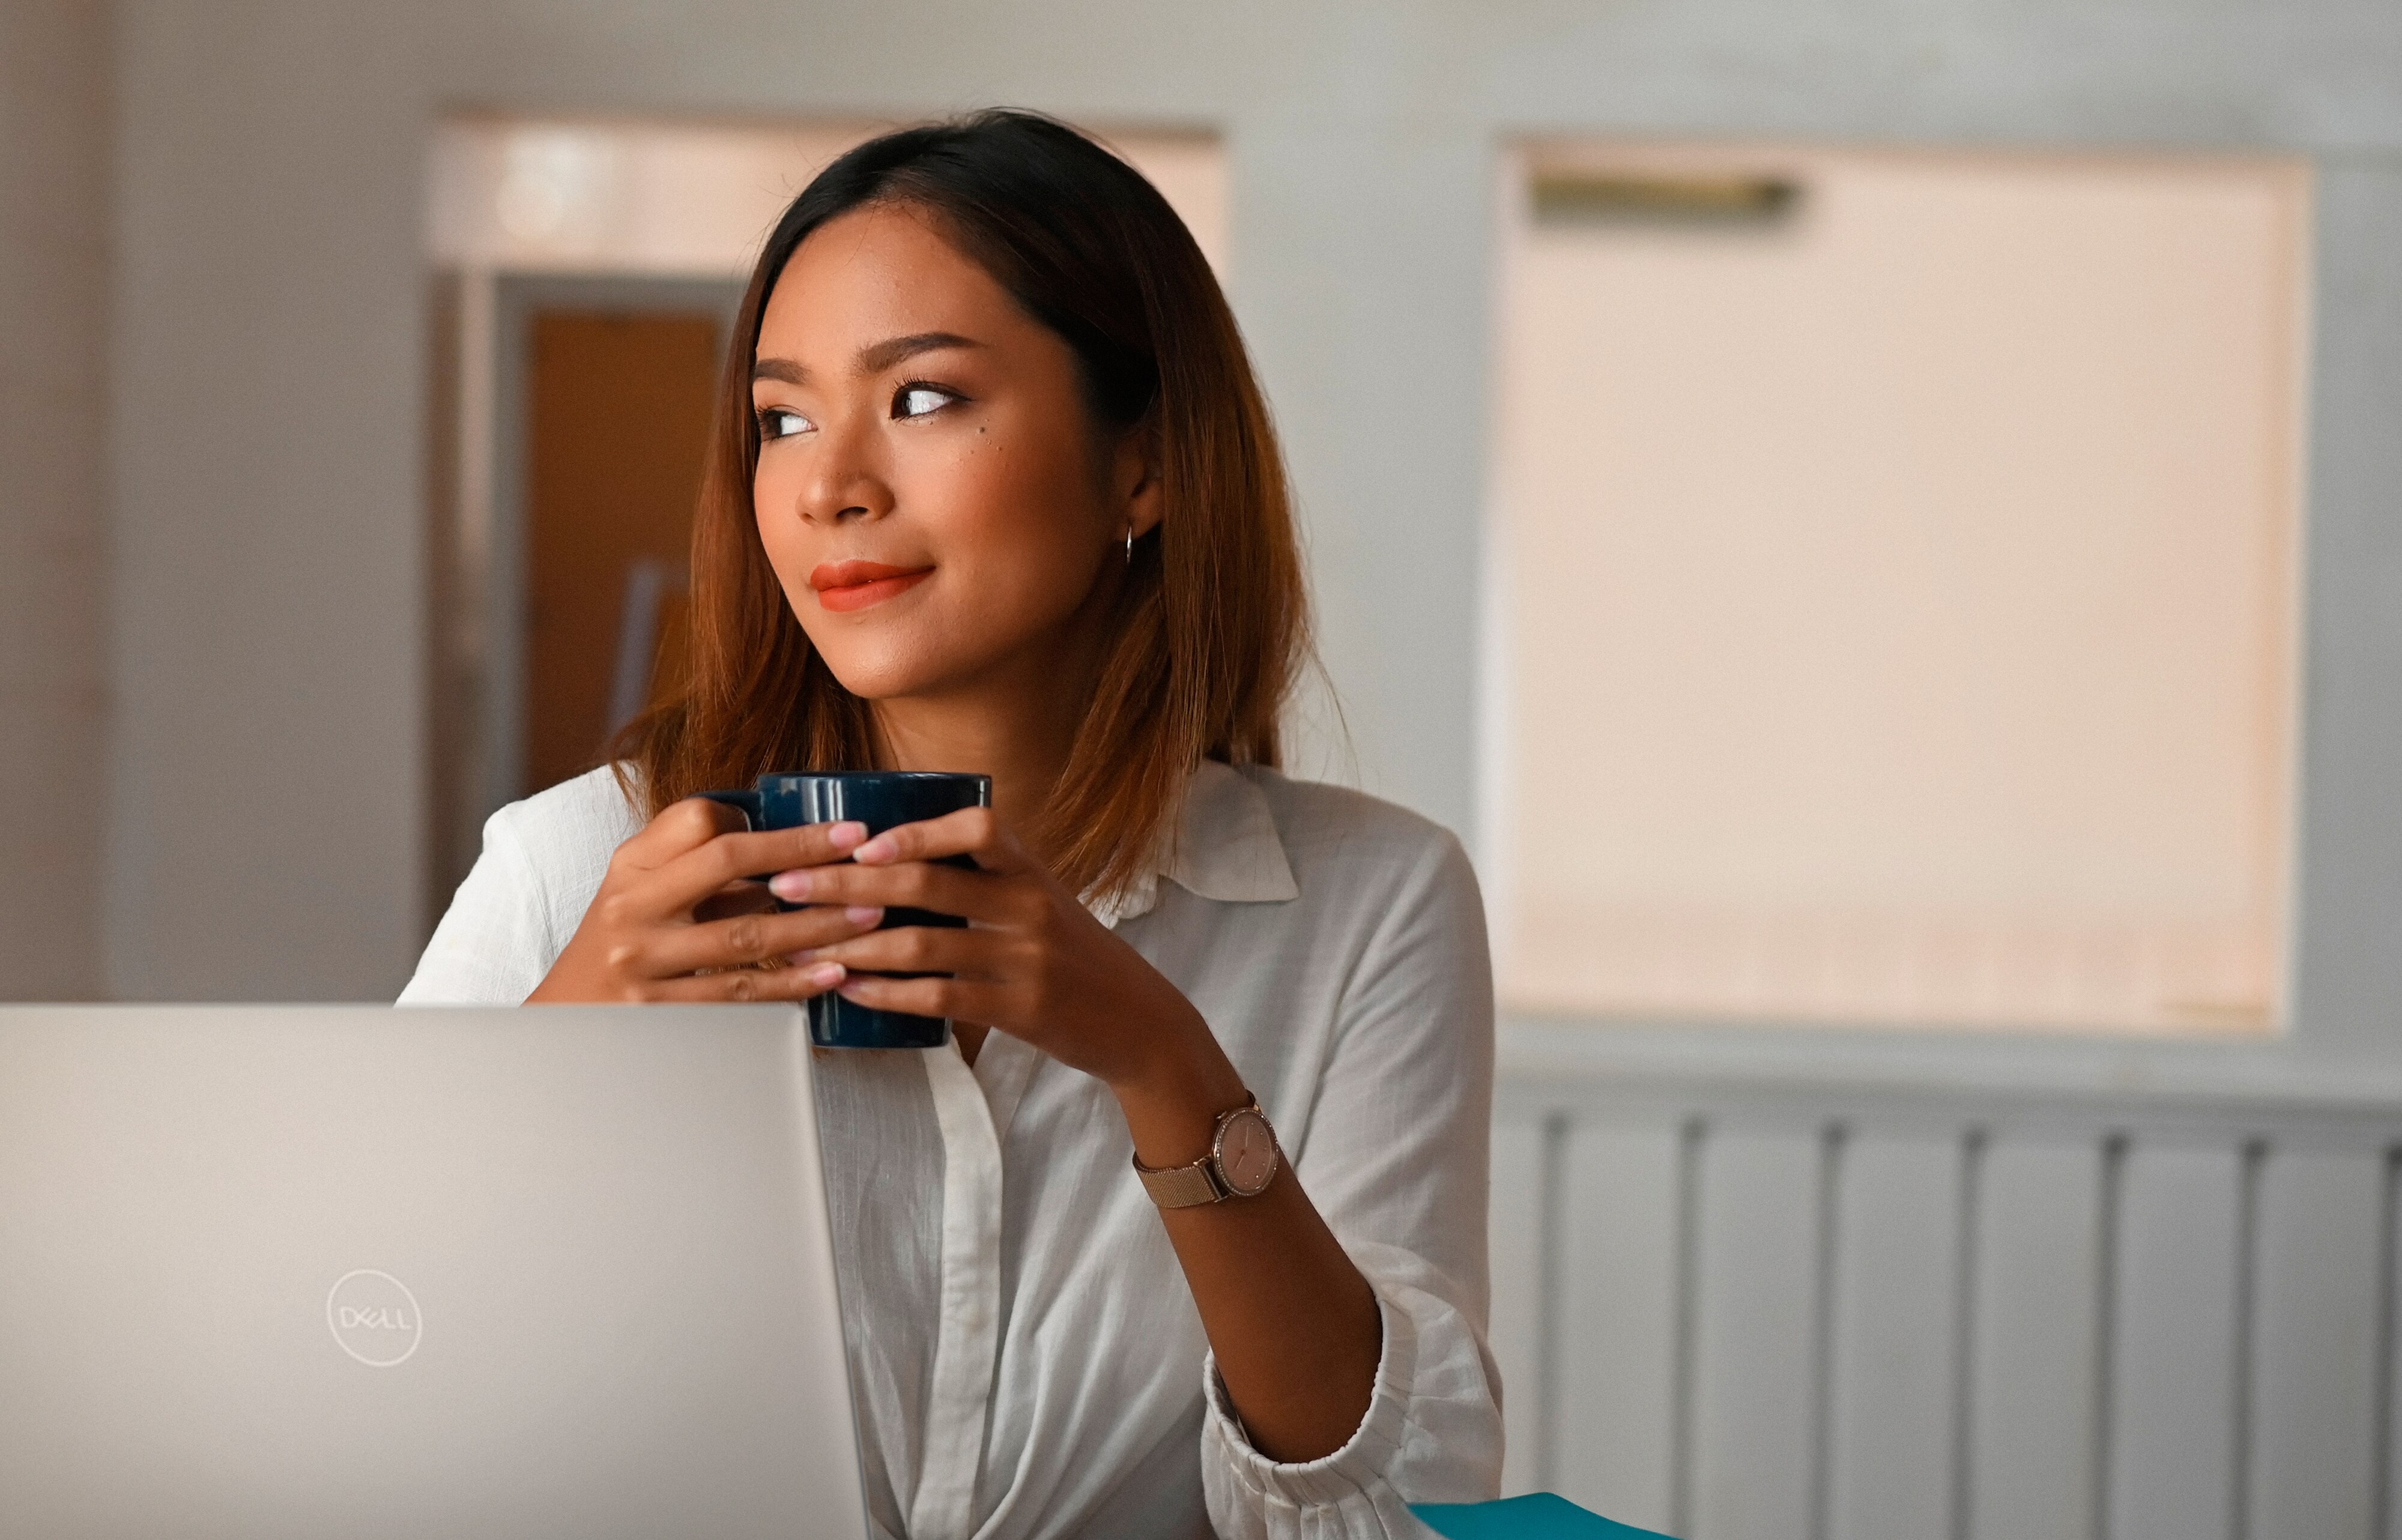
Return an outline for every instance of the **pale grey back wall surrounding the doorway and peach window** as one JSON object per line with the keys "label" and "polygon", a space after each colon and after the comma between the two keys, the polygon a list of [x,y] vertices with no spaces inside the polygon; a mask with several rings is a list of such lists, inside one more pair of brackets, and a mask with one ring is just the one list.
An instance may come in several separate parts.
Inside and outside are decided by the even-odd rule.
{"label": "pale grey back wall surrounding the doorway and peach window", "polygon": [[2402,1021],[2402,14],[2342,0],[1218,7],[130,2],[108,980],[387,995],[423,930],[423,144],[440,111],[1206,125],[1369,788],[1468,826],[1496,147],[2318,159],[2299,1033]]}

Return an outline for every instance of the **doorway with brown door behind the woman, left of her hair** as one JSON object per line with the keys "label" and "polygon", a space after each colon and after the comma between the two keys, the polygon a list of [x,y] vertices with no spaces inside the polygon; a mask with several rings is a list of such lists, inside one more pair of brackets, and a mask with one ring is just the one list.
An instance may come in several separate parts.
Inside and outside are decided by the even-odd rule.
{"label": "doorway with brown door behind the woman, left of her hair", "polygon": [[[603,759],[685,658],[692,509],[737,279],[468,274],[437,303],[432,913],[483,819]],[[447,406],[447,408],[444,408]],[[483,449],[476,449],[476,440]],[[464,466],[459,461],[466,461]]]}

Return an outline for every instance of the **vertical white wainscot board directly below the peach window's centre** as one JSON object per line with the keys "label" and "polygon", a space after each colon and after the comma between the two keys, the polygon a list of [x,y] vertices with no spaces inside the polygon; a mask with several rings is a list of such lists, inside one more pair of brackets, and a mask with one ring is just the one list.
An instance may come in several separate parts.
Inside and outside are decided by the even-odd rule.
{"label": "vertical white wainscot board directly below the peach window's centre", "polygon": [[1960,1139],[1859,1134],[1835,1189],[1828,1533],[1950,1528]]}

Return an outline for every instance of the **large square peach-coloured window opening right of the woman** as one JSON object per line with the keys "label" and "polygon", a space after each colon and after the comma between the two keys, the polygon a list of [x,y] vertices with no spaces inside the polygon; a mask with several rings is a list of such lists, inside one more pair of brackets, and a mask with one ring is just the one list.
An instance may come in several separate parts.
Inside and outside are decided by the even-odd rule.
{"label": "large square peach-coloured window opening right of the woman", "polygon": [[1501,999],[2272,1026],[2306,166],[1532,156],[1802,199],[1504,226]]}

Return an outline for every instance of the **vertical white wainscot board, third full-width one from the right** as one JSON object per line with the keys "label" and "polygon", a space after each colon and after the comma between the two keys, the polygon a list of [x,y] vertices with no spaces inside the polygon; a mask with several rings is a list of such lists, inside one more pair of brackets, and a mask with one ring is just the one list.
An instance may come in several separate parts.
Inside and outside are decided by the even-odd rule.
{"label": "vertical white wainscot board, third full-width one from the right", "polygon": [[2099,1141],[1986,1146],[1974,1300],[1970,1540],[2095,1540]]}

